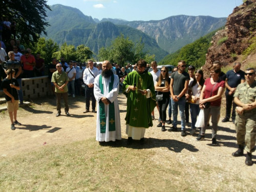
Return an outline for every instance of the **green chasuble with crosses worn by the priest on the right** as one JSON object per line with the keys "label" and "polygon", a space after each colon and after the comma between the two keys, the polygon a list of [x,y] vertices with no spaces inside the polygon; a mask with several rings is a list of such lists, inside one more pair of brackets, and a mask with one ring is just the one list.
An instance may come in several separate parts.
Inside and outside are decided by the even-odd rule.
{"label": "green chasuble with crosses worn by the priest on the right", "polygon": [[[126,93],[125,90],[129,86],[134,86],[134,83],[136,83],[137,89],[149,89],[151,97],[146,98],[146,95],[142,95],[137,90],[130,90],[129,93]],[[145,72],[140,74],[137,71],[129,73],[123,81],[123,94],[127,97],[126,124],[144,128],[153,126],[151,112],[156,106],[156,94],[151,73]]]}

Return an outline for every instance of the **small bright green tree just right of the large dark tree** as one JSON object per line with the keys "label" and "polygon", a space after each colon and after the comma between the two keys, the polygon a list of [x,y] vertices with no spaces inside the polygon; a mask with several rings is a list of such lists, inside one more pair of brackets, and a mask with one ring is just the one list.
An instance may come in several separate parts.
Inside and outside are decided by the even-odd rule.
{"label": "small bright green tree just right of the large dark tree", "polygon": [[45,37],[40,37],[35,45],[34,55],[39,52],[41,57],[45,59],[45,63],[49,64],[52,61],[52,54],[58,51],[59,46],[52,39],[46,40]]}

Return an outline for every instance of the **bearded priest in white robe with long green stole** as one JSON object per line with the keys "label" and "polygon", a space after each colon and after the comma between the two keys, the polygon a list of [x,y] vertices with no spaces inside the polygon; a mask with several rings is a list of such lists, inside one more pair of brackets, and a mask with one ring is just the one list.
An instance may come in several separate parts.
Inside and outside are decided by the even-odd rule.
{"label": "bearded priest in white robe with long green stole", "polygon": [[119,78],[113,74],[110,61],[102,63],[102,72],[94,81],[97,105],[96,141],[121,139],[120,111],[118,105]]}

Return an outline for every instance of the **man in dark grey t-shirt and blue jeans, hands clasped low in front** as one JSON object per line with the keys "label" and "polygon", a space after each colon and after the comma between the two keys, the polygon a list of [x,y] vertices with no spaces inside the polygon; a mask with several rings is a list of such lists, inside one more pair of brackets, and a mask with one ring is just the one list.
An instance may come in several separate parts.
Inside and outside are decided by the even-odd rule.
{"label": "man in dark grey t-shirt and blue jeans, hands clasped low in front", "polygon": [[178,71],[170,76],[170,95],[172,95],[172,112],[173,112],[173,127],[169,129],[169,132],[177,131],[177,116],[178,106],[181,116],[181,136],[186,136],[185,132],[185,93],[188,90],[188,82],[190,80],[189,74],[185,72],[186,62],[180,60],[178,62]]}

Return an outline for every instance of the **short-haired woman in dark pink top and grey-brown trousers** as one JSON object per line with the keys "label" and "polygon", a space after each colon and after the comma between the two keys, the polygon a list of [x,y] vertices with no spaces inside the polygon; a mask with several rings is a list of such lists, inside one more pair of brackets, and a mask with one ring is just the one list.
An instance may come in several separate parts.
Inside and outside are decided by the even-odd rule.
{"label": "short-haired woman in dark pink top and grey-brown trousers", "polygon": [[[217,145],[218,116],[221,111],[221,97],[225,91],[225,81],[219,78],[220,73],[219,67],[213,67],[210,70],[211,77],[205,80],[199,100],[200,109],[204,109],[204,127],[197,140],[204,140],[208,117],[211,115],[212,145]],[[208,108],[207,105],[209,105]]]}

